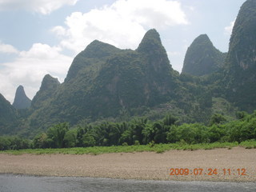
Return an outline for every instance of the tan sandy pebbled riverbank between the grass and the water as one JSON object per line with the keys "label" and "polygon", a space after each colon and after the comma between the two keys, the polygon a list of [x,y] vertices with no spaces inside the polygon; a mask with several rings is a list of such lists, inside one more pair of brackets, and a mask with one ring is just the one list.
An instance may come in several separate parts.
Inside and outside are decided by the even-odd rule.
{"label": "tan sandy pebbled riverbank between the grass and the water", "polygon": [[[170,175],[171,168],[187,168],[189,175]],[[217,169],[217,174],[210,174]],[[226,175],[223,169],[226,168]],[[201,175],[197,170],[203,169]],[[230,169],[230,170],[228,170]],[[240,169],[240,170],[238,170]],[[242,170],[244,169],[244,170]],[[93,178],[136,178],[181,181],[256,182],[256,149],[170,150],[100,155],[0,154],[0,173]],[[241,175],[242,173],[246,175]],[[240,174],[240,175],[239,175]]]}

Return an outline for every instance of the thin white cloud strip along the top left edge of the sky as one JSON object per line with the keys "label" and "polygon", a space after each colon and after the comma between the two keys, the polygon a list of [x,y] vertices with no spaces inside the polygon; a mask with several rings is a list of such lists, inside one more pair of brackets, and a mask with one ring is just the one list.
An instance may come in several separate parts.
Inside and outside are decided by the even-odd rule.
{"label": "thin white cloud strip along the top left edge of the sky", "polygon": [[0,10],[29,10],[50,14],[60,7],[74,6],[78,0],[0,0]]}

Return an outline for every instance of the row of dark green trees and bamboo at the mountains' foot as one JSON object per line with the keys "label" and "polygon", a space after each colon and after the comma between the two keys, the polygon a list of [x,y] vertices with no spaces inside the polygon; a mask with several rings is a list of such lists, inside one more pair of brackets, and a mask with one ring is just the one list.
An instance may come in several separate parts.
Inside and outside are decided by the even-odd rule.
{"label": "row of dark green trees and bamboo at the mountains' foot", "polygon": [[127,146],[152,143],[243,142],[256,139],[256,111],[238,112],[237,119],[227,122],[222,114],[214,114],[208,125],[179,125],[178,118],[166,115],[159,121],[134,118],[130,122],[102,122],[70,128],[67,122],[51,126],[32,140],[18,136],[1,136],[0,150],[29,148],[70,148],[87,146]]}

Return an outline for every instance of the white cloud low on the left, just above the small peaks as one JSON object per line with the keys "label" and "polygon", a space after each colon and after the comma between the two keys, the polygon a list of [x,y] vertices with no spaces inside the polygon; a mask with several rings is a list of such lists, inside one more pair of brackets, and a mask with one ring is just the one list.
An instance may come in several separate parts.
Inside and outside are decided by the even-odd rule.
{"label": "white cloud low on the left, just above the small peaks", "polygon": [[33,98],[44,75],[51,74],[63,81],[72,58],[60,52],[59,47],[35,43],[30,50],[20,52],[14,62],[1,64],[0,93],[12,102],[16,88],[22,85],[28,97]]}

